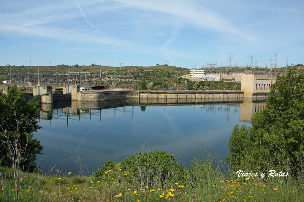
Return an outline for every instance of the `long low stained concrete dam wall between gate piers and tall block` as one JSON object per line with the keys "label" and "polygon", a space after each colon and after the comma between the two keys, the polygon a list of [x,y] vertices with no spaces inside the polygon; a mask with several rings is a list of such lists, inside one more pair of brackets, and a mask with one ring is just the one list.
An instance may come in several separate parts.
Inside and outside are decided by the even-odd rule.
{"label": "long low stained concrete dam wall between gate piers and tall block", "polygon": [[105,91],[72,93],[72,101],[110,101],[120,99],[148,103],[195,103],[243,101],[243,91]]}

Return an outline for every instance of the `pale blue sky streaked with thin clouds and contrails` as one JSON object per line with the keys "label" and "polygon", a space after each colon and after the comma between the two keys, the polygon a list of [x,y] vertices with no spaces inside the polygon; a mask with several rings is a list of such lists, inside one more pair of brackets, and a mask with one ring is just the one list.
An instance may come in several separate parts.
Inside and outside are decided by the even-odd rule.
{"label": "pale blue sky streaked with thin clouds and contrails", "polygon": [[0,65],[304,64],[303,13],[302,0],[2,0]]}

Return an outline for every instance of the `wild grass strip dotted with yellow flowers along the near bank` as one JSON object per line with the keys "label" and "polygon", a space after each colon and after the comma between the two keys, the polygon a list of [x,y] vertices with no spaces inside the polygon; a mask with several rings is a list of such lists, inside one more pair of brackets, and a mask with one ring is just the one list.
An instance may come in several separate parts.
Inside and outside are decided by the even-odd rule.
{"label": "wild grass strip dotted with yellow flowers along the near bank", "polygon": [[197,158],[192,167],[164,180],[159,178],[160,164],[148,184],[138,175],[147,171],[143,164],[138,167],[142,171],[132,171],[116,163],[98,177],[59,170],[52,176],[20,171],[18,190],[12,187],[11,168],[2,167],[0,200],[13,201],[18,192],[20,201],[304,201],[304,182],[299,178],[268,177],[267,173],[263,179],[237,177],[223,165],[215,167],[217,162]]}

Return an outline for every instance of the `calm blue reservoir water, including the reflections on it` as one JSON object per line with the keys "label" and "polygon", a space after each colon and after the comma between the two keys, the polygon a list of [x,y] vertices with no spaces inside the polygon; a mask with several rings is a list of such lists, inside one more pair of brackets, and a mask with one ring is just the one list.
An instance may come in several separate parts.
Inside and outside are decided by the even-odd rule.
{"label": "calm blue reservoir water, including the reflections on it", "polygon": [[[37,156],[44,172],[92,174],[106,161],[122,161],[139,151],[163,150],[191,166],[201,144],[226,158],[236,124],[250,126],[250,117],[264,101],[138,105],[135,101],[43,104],[34,134],[44,146]],[[87,173],[87,174],[88,174]]]}

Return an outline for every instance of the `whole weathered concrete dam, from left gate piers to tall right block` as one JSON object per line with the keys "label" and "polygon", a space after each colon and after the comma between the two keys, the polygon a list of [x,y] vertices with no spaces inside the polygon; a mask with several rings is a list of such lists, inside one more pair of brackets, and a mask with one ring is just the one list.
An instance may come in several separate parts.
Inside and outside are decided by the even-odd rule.
{"label": "whole weathered concrete dam, from left gate piers to tall right block", "polygon": [[[189,90],[105,90],[81,91],[79,85],[63,85],[62,90],[52,90],[52,86],[33,86],[33,93],[24,93],[26,101],[37,96],[40,103],[56,103],[60,101],[110,101],[132,99],[139,104],[171,104],[171,103],[204,103],[243,101],[244,98],[266,99],[271,84],[276,81],[273,74],[242,73],[241,90],[227,91],[189,91]],[[88,87],[87,87],[88,88]],[[90,87],[91,88],[91,87]],[[3,93],[9,87],[3,88]],[[92,89],[92,88],[91,88]]]}

